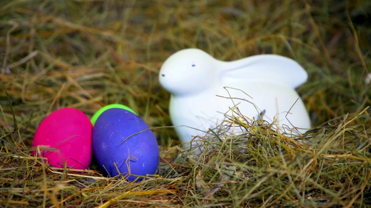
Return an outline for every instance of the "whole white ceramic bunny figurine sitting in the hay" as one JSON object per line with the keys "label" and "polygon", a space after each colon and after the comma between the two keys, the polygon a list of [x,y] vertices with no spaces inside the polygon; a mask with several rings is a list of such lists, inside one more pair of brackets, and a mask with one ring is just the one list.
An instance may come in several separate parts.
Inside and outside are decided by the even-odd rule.
{"label": "whole white ceramic bunny figurine sitting in the hay", "polygon": [[220,61],[197,48],[174,53],[159,73],[160,84],[171,93],[171,121],[181,126],[175,130],[185,143],[217,127],[226,119],[224,114],[232,115],[229,108],[235,105],[250,119],[258,120],[265,110],[263,120],[272,123],[275,117],[276,129],[311,128],[308,112],[295,91],[307,78],[296,61],[283,56],[265,54]]}

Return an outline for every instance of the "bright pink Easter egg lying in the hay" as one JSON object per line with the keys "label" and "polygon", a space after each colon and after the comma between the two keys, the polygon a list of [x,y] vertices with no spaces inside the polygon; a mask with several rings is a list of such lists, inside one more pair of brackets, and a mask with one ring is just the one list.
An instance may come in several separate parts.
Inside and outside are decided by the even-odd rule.
{"label": "bright pink Easter egg lying in the hay", "polygon": [[[41,157],[50,165],[63,168],[87,169],[92,160],[93,125],[82,111],[60,108],[47,115],[37,127],[33,147],[40,146]],[[37,151],[32,152],[33,155]]]}

